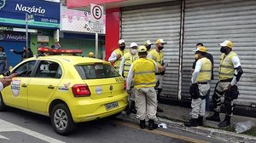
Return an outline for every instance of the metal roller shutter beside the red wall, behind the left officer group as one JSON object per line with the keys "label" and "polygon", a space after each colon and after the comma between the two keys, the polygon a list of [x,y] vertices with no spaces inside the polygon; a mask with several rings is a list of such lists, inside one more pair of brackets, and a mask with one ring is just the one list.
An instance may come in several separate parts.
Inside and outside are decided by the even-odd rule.
{"label": "metal roller shutter beside the red wall, behind the left officer group", "polygon": [[168,43],[163,50],[164,60],[170,64],[166,68],[162,93],[175,99],[178,92],[180,11],[180,1],[173,1],[123,8],[121,15],[121,38],[125,39],[127,47],[132,42],[142,45],[151,40],[154,43],[158,38]]}

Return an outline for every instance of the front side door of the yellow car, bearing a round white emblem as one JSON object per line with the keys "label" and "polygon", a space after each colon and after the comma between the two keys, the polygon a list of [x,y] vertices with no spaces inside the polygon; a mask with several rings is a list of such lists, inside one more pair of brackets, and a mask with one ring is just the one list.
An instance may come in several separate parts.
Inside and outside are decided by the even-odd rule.
{"label": "front side door of the yellow car, bearing a round white emblem", "polygon": [[15,67],[13,72],[18,73],[13,78],[10,86],[3,89],[3,100],[9,106],[27,108],[27,85],[31,79],[31,73],[36,64],[36,60],[24,62]]}

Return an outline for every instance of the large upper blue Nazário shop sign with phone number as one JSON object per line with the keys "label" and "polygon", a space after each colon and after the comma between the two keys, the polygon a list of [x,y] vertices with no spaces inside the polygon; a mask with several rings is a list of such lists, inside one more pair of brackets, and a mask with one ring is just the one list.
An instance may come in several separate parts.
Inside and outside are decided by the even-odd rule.
{"label": "large upper blue Naz\u00e1rio shop sign with phone number", "polygon": [[26,14],[33,14],[29,26],[60,27],[60,3],[40,0],[0,0],[0,23],[25,25]]}

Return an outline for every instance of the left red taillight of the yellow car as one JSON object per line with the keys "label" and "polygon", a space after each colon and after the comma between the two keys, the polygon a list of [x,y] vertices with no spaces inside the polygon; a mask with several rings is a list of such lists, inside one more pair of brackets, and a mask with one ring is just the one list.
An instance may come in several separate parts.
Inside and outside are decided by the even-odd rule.
{"label": "left red taillight of the yellow car", "polygon": [[72,91],[75,97],[90,96],[90,89],[86,84],[75,84],[72,87]]}

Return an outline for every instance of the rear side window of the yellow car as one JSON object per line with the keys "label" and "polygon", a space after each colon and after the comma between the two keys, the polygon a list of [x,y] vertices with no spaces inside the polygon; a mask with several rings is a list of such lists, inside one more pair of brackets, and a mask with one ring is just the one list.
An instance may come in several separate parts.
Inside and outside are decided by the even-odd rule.
{"label": "rear side window of the yellow car", "polygon": [[61,66],[53,61],[42,60],[38,65],[35,77],[61,78]]}

